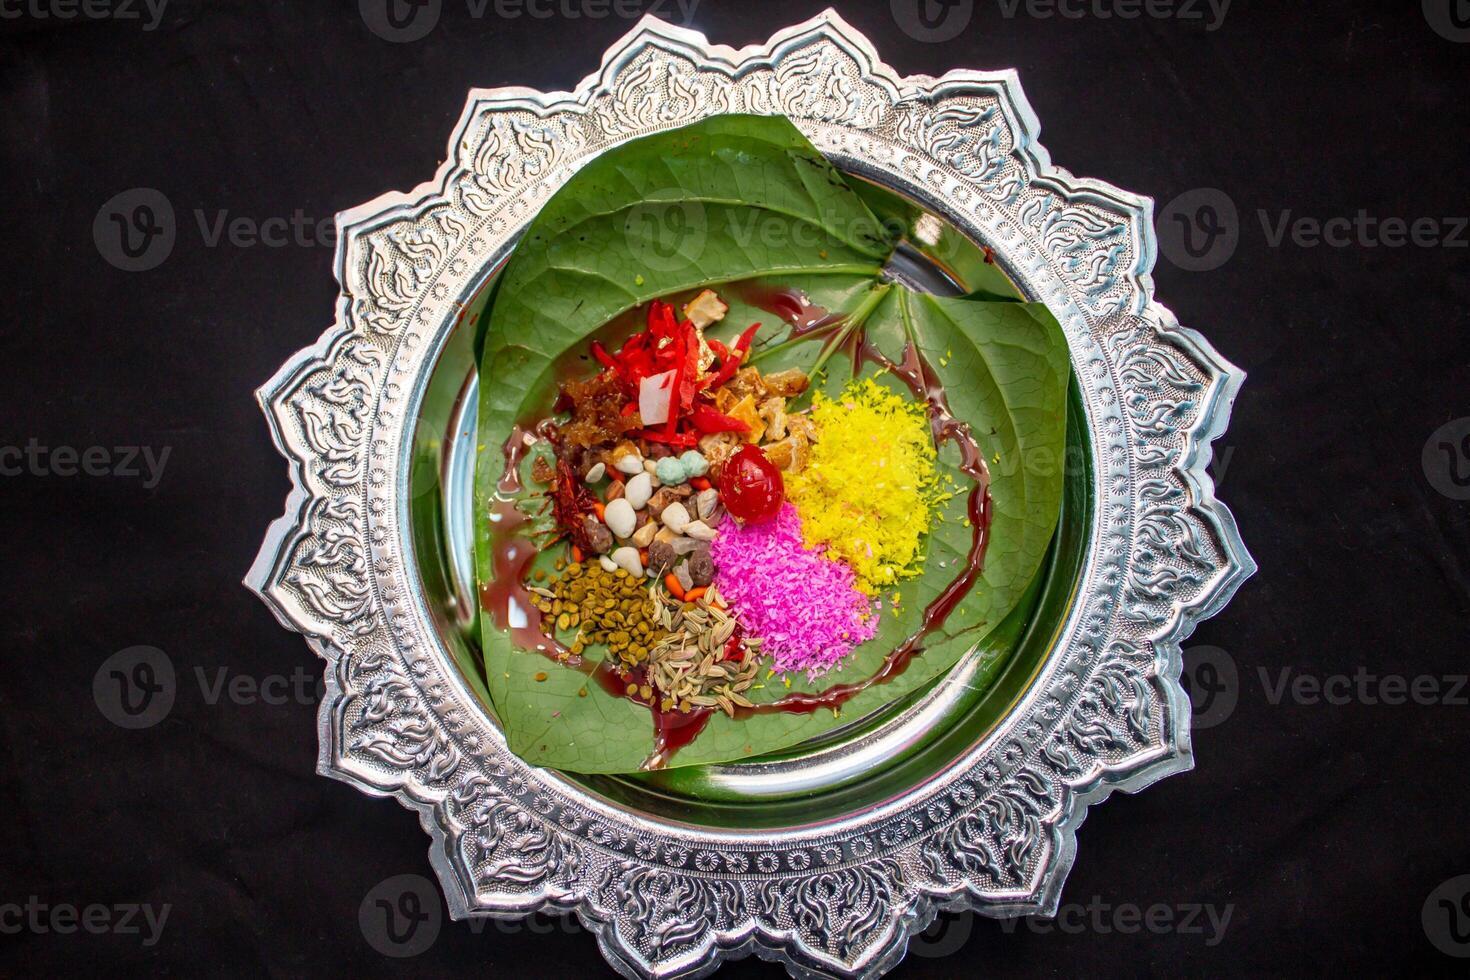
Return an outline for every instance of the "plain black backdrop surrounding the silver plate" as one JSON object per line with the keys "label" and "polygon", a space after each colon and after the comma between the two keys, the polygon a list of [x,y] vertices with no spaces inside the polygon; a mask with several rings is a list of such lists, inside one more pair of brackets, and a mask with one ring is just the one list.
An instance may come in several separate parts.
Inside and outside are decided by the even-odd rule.
{"label": "plain black backdrop surrounding the silver plate", "polygon": [[[820,6],[701,0],[694,26],[750,44]],[[417,958],[381,956],[359,905],[390,876],[429,874],[416,818],[315,774],[312,704],[209,704],[196,677],[319,673],[240,579],[287,489],[251,392],[320,334],[337,295],[329,248],[207,247],[196,210],[320,219],[412,188],[466,90],[572,88],[631,28],[444,7],[412,44],[369,32],[356,0],[173,0],[154,31],[0,19],[0,444],[171,447],[151,489],[0,480],[0,904],[172,907],[153,946],[0,934],[4,974],[606,973],[589,936],[557,930],[445,923]],[[1195,771],[1088,817],[1063,893],[1232,918],[1216,945],[975,923],[963,952],[911,955],[894,976],[1454,967],[1420,909],[1470,873],[1470,708],[1273,704],[1260,671],[1274,685],[1286,667],[1467,670],[1470,502],[1438,494],[1420,453],[1470,414],[1470,250],[1464,237],[1272,247],[1257,212],[1470,212],[1470,44],[1432,29],[1417,0],[1236,0],[1213,31],[1025,9],[980,0],[963,34],[932,44],[883,1],[842,15],[901,73],[1017,68],[1061,166],[1160,203],[1214,187],[1239,207],[1227,263],[1157,270],[1160,298],[1250,372],[1217,476],[1261,572],[1191,641],[1230,654],[1239,702],[1197,733]],[[172,201],[178,241],[128,273],[103,260],[93,220],[137,187]],[[140,644],[168,652],[179,691],[166,720],[132,732],[91,689],[101,661]]]}

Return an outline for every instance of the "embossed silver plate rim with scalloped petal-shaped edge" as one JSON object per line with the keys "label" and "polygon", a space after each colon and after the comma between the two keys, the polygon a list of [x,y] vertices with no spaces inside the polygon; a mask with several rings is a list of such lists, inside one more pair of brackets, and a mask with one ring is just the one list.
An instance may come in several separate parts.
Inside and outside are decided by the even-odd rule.
{"label": "embossed silver plate rim with scalloped petal-shaped edge", "polygon": [[[898,792],[763,830],[509,754],[412,527],[429,379],[487,270],[592,156],[722,112],[789,116],[994,247],[1061,320],[1092,457],[1073,601],[1003,720]],[[1179,644],[1254,572],[1205,475],[1244,375],[1154,301],[1151,201],[1053,166],[1036,132],[1014,72],[901,78],[832,12],[742,50],[647,18],[573,93],[472,91],[434,181],[338,216],[335,322],[259,392],[293,489],[247,585],[326,660],[319,770],[419,811],[454,917],[575,911],[631,977],[753,952],[876,976],[939,908],[1054,911],[1086,808],[1191,767]],[[856,748],[711,779],[860,770],[872,739],[932,726],[966,669]]]}

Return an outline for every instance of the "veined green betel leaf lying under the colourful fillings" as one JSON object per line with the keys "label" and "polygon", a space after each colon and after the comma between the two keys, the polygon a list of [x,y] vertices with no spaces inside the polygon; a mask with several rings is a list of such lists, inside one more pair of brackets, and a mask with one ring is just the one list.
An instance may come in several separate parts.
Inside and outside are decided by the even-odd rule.
{"label": "veined green betel leaf lying under the colourful fillings", "polygon": [[[1045,307],[1010,300],[998,275],[963,298],[885,282],[901,226],[875,216],[867,200],[788,120],[716,116],[610,150],[573,176],[526,231],[488,310],[476,473],[482,586],[495,574],[487,516],[504,469],[500,448],[513,426],[550,414],[557,381],[598,370],[587,360],[594,336],[616,342],[650,300],[703,287],[731,306],[711,335],[763,322],[756,347],[761,370],[810,370],[820,360],[813,389],[829,395],[857,372],[914,397],[894,372],[832,354],[817,341],[784,342],[786,326],[761,309],[770,306],[764,297],[800,294],[813,307],[853,314],[844,329],[861,331],[892,361],[916,348],[989,469],[992,517],[982,572],[907,669],[839,710],[714,714],[670,765],[763,755],[845,726],[929,683],[970,649],[1005,648],[1035,592],[1061,500],[1066,339]],[[953,441],[939,444],[939,466],[969,489]],[[526,513],[539,498],[537,485],[528,488],[519,504]],[[751,701],[820,693],[875,674],[963,572],[973,544],[966,498],[960,492],[944,504],[945,519],[926,536],[923,573],[898,586],[900,611],[882,613],[872,641],[816,680],[764,677],[747,692]],[[553,557],[541,555],[539,567]],[[650,757],[654,732],[645,707],[517,648],[491,617],[481,621],[487,685],[512,751],[537,765],[582,773],[635,771]]]}

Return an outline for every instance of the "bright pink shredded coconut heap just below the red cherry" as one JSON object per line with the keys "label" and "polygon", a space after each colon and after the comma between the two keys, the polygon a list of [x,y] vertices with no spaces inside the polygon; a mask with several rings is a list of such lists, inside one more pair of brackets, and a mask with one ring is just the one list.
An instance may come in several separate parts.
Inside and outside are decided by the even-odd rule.
{"label": "bright pink shredded coconut heap just below the red cherry", "polygon": [[853,585],[853,570],[801,544],[801,516],[791,504],[776,520],[750,527],[726,517],[710,557],[720,595],[781,673],[814,677],[878,632],[872,601]]}

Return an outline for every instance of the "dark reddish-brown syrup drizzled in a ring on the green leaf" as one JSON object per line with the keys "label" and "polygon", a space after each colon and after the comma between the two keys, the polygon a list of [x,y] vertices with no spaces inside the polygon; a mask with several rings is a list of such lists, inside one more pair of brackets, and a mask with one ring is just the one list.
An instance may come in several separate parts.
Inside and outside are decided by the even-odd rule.
{"label": "dark reddish-brown syrup drizzled in a ring on the green leaf", "polygon": [[[738,707],[735,708],[735,717],[747,718],[757,714],[778,713],[810,714],[822,708],[832,708],[835,711],[869,688],[888,683],[901,676],[913,660],[923,652],[925,639],[945,623],[975,586],[983,567],[985,548],[989,542],[992,516],[989,470],[985,466],[985,455],[970,432],[970,426],[950,413],[948,401],[944,397],[944,386],[911,339],[904,344],[903,360],[894,361],[867,341],[863,329],[854,329],[844,336],[845,317],[813,304],[798,291],[742,287],[741,298],[789,323],[791,334],[788,339],[839,341],[848,348],[853,357],[854,375],[861,369],[864,361],[892,372],[895,378],[901,379],[913,391],[916,398],[922,398],[928,404],[929,426],[933,432],[935,445],[954,442],[960,450],[960,470],[975,480],[967,500],[972,538],[964,570],[925,607],[923,621],[919,629],[889,652],[876,671],[863,680],[833,685],[816,693],[794,692],[767,704],[757,704],[750,708]],[[700,736],[713,717],[714,710],[698,708],[686,713],[660,711],[657,704],[648,704],[641,698],[628,695],[629,683],[644,683],[642,669],[622,674],[606,661],[591,663],[572,654],[570,649],[542,629],[541,611],[532,604],[531,594],[525,588],[526,569],[539,548],[529,538],[514,533],[529,522],[529,517],[516,508],[513,498],[523,489],[520,463],[525,454],[537,442],[550,439],[553,433],[554,429],[550,423],[541,423],[532,429],[517,425],[512,429],[510,438],[503,447],[506,472],[497,485],[498,492],[490,516],[492,523],[494,579],[481,589],[481,605],[490,613],[497,627],[510,632],[512,641],[517,646],[538,652],[566,667],[581,670],[594,679],[607,693],[617,698],[628,698],[647,707],[653,716],[654,748],[648,758],[644,760],[642,768],[663,768],[675,752]]]}

